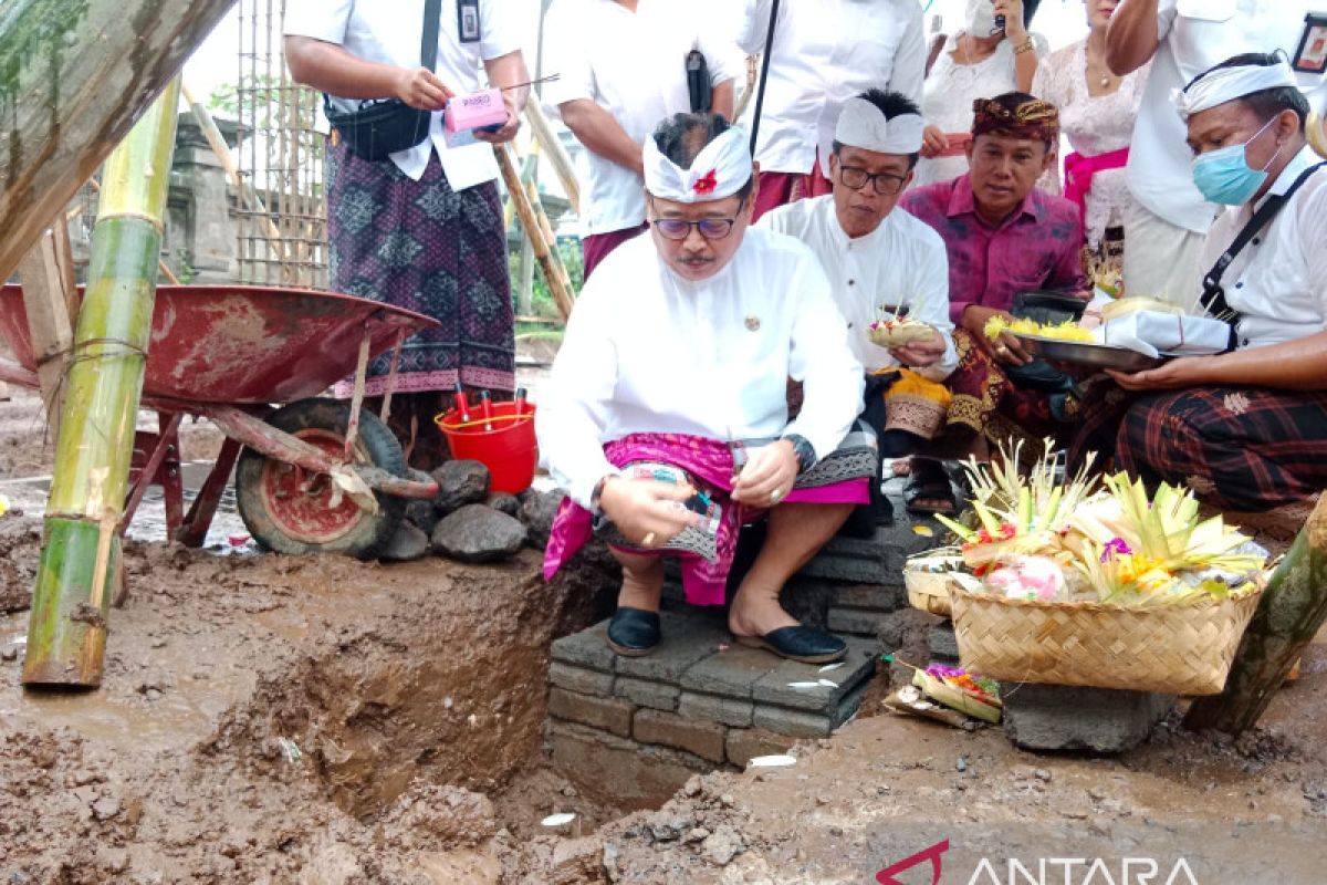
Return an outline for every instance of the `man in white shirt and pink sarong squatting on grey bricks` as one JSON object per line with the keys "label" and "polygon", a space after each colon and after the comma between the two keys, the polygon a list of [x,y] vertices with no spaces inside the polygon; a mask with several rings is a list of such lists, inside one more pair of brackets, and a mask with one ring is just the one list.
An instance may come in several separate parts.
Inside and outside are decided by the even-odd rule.
{"label": "man in white shirt and pink sarong squatting on grey bricks", "polygon": [[[677,114],[646,139],[650,234],[618,247],[585,285],[536,418],[540,451],[569,495],[544,573],[592,525],[605,533],[622,564],[608,629],[618,654],[660,641],[661,555],[681,560],[687,601],[722,605],[738,529],[764,515],[768,537],[729,610],[736,641],[807,662],[847,650],[798,624],[779,593],[869,502],[878,456],[849,433],[863,369],[811,251],[748,227],[747,141],[709,114]],[[791,423],[790,377],[805,390]]]}

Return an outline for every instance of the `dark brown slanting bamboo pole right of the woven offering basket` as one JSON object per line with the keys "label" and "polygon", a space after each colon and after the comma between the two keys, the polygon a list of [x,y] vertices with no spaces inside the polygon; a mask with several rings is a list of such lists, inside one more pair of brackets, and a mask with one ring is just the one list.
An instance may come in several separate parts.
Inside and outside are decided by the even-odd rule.
{"label": "dark brown slanting bamboo pole right of the woven offering basket", "polygon": [[1226,690],[1198,698],[1186,728],[1239,734],[1271,703],[1290,669],[1327,621],[1327,494],[1273,572],[1235,653]]}

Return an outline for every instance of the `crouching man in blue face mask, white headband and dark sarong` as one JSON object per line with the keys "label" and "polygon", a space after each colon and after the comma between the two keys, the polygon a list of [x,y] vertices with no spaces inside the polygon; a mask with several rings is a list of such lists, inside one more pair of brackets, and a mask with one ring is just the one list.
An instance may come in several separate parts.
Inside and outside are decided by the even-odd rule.
{"label": "crouching man in blue face mask, white headband and dark sarong", "polygon": [[1071,460],[1113,448],[1132,475],[1270,510],[1327,486],[1327,163],[1279,56],[1235,56],[1176,103],[1194,186],[1226,206],[1202,253],[1202,305],[1230,324],[1231,349],[1111,373],[1141,395],[1123,422],[1119,409],[1095,411]]}

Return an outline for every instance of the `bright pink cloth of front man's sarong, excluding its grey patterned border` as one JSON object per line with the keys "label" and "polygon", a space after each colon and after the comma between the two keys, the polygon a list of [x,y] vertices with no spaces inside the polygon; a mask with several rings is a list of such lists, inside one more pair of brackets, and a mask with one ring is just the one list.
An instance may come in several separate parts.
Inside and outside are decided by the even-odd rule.
{"label": "bright pink cloth of front man's sarong, excluding its grey patterned border", "polygon": [[[714,561],[687,551],[658,551],[622,548],[637,556],[677,556],[682,564],[682,589],[693,605],[723,605],[726,601],[729,569],[736,549],[738,531],[744,523],[762,517],[767,508],[734,503],[733,451],[718,439],[686,434],[632,434],[604,446],[604,454],[616,467],[632,462],[653,460],[681,467],[702,483],[707,483],[718,504],[723,508],[715,535]],[[851,479],[809,488],[794,488],[784,503],[803,504],[865,504],[871,500],[867,479]],[[544,580],[549,580],[592,535],[592,516],[588,510],[563,499],[544,551]]]}

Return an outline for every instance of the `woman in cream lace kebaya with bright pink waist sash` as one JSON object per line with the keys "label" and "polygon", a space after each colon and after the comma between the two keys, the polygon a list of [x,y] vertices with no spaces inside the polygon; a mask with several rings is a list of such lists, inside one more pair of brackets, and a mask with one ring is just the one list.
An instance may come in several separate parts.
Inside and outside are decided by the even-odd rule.
{"label": "woman in cream lace kebaya with bright pink waist sash", "polygon": [[[1042,186],[1079,204],[1088,251],[1101,255],[1107,227],[1123,226],[1133,204],[1124,165],[1151,62],[1127,77],[1111,73],[1105,29],[1119,0],[1087,0],[1085,5],[1091,32],[1042,60],[1032,94],[1060,109],[1060,131],[1072,149],[1064,157],[1063,180],[1059,170],[1052,170]],[[1124,238],[1128,244],[1128,231]],[[1119,253],[1112,249],[1108,257],[1120,267]]]}

